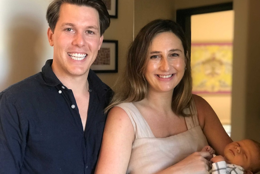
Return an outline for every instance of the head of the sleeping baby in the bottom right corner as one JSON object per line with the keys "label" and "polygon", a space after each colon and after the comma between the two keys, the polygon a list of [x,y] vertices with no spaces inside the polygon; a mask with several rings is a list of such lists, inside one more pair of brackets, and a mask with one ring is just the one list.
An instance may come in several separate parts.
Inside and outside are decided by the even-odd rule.
{"label": "head of the sleeping baby in the bottom right corner", "polygon": [[249,173],[260,171],[260,143],[254,140],[241,140],[229,143],[224,149],[227,163],[242,166]]}

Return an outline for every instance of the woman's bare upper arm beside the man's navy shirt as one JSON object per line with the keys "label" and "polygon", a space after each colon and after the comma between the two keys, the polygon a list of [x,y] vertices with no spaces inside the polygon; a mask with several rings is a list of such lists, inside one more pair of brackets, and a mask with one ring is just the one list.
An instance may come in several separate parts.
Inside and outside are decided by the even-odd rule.
{"label": "woman's bare upper arm beside the man's navy shirt", "polygon": [[134,128],[127,113],[113,107],[105,124],[95,174],[125,174],[134,140]]}

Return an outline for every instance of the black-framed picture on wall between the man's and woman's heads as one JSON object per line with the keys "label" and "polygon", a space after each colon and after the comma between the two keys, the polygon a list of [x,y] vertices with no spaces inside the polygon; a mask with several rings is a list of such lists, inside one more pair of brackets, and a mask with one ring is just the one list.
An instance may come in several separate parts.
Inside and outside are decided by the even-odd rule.
{"label": "black-framed picture on wall between the man's and woman's heads", "polygon": [[118,41],[103,40],[97,58],[90,67],[95,73],[117,73]]}

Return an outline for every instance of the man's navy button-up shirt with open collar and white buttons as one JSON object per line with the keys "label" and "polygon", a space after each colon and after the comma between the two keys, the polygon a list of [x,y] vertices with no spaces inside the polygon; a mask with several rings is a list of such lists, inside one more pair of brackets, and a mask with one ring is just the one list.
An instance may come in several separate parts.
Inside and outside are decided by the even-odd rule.
{"label": "man's navy button-up shirt with open collar and white buttons", "polygon": [[94,173],[111,89],[90,70],[85,131],[72,90],[46,61],[42,72],[0,93],[1,174]]}

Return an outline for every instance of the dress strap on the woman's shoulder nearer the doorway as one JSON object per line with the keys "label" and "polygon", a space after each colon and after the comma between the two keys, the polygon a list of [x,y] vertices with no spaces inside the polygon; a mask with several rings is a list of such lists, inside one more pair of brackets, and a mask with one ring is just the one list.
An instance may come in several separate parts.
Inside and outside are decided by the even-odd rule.
{"label": "dress strap on the woman's shoulder nearer the doorway", "polygon": [[191,114],[191,116],[184,117],[188,129],[199,125],[198,113],[193,98],[191,99],[190,107],[185,108],[184,113]]}

